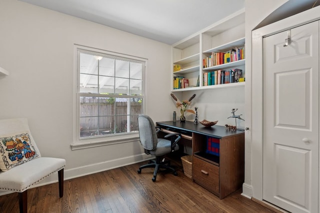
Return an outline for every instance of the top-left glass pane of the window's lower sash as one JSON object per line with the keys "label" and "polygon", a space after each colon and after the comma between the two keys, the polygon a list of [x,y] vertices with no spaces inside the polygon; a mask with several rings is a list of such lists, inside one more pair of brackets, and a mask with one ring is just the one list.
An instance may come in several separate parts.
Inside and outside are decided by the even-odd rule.
{"label": "top-left glass pane of the window's lower sash", "polygon": [[80,97],[80,117],[98,115],[98,98]]}

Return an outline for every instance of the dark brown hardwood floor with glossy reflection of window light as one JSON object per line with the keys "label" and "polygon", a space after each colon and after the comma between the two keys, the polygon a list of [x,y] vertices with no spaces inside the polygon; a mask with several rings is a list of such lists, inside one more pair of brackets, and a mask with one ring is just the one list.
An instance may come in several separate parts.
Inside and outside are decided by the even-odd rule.
{"label": "dark brown hardwood floor with glossy reflection of window light", "polygon": [[[179,163],[178,176],[161,171],[152,182],[153,169],[133,164],[28,191],[28,213],[274,213],[234,192],[223,200],[191,182]],[[0,213],[18,213],[18,195],[0,197]]]}

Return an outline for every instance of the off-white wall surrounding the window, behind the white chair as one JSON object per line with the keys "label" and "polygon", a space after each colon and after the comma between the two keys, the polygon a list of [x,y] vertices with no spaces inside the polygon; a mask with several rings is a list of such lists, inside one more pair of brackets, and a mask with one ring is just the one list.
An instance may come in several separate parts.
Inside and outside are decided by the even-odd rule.
{"label": "off-white wall surrounding the window, behind the white chair", "polygon": [[74,44],[147,58],[147,114],[172,118],[169,45],[18,0],[0,0],[0,29],[0,119],[26,117],[41,155],[66,159],[65,179],[144,155],[138,141],[71,151]]}

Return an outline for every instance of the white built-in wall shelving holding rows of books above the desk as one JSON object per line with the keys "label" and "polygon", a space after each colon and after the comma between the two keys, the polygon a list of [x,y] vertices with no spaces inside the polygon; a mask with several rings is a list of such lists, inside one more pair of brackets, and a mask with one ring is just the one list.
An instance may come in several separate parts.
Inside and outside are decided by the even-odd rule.
{"label": "white built-in wall shelving holding rows of books above the desk", "polygon": [[[198,33],[190,35],[173,44],[171,91],[180,92],[244,86],[245,82],[209,86],[202,85],[202,76],[204,72],[237,68],[242,70],[242,75],[245,75],[245,59],[202,68],[203,59],[212,52],[225,52],[232,48],[243,47],[245,44],[244,30],[244,9],[242,9],[204,28]],[[173,72],[174,65],[180,65],[181,69]],[[180,76],[189,80],[190,87],[173,89],[174,77]],[[199,79],[198,86],[196,86],[197,79]]]}

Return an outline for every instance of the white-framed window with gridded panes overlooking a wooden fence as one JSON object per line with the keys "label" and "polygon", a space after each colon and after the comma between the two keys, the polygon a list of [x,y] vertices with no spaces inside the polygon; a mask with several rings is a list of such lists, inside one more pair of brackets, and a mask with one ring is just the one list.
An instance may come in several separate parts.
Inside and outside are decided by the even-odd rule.
{"label": "white-framed window with gridded panes overlooking a wooden fence", "polygon": [[77,140],[137,133],[146,60],[91,48],[76,51]]}

